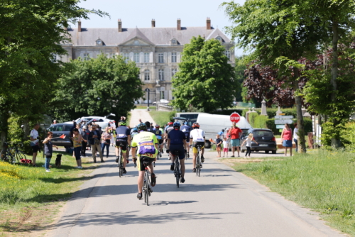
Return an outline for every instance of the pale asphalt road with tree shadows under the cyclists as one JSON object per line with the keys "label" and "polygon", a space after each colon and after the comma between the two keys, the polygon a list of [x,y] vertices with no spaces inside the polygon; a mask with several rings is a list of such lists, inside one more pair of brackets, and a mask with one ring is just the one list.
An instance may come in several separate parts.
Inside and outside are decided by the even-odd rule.
{"label": "pale asphalt road with tree shadows under the cyclists", "polygon": [[176,187],[164,153],[155,165],[157,184],[146,206],[136,198],[136,168],[119,177],[113,149],[92,180],[67,202],[48,236],[342,236],[258,182],[207,152],[201,177],[187,160],[185,184]]}

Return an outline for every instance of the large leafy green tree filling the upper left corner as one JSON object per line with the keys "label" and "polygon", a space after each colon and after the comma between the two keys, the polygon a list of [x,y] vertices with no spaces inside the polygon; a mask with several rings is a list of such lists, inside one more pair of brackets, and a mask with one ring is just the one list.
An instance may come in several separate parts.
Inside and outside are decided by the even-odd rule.
{"label": "large leafy green tree filling the upper left corner", "polygon": [[[0,2],[0,147],[7,137],[9,111],[25,125],[37,119],[50,101],[60,72],[53,55],[63,55],[60,43],[70,40],[65,28],[89,13],[75,0],[4,0]],[[28,127],[28,126],[27,126]]]}

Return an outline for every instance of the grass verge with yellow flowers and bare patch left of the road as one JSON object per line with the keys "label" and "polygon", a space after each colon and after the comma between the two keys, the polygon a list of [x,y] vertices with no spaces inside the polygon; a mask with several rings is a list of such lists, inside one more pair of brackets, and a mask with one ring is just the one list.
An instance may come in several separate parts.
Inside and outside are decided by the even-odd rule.
{"label": "grass verge with yellow flowers and bare patch left of the road", "polygon": [[[60,168],[54,167],[58,153],[62,154]],[[75,158],[57,152],[50,162],[53,167],[45,172],[41,155],[37,158],[39,167],[0,162],[0,233],[4,236],[30,236],[34,230],[38,234],[53,222],[60,207],[97,167],[84,158],[84,169],[78,170]]]}

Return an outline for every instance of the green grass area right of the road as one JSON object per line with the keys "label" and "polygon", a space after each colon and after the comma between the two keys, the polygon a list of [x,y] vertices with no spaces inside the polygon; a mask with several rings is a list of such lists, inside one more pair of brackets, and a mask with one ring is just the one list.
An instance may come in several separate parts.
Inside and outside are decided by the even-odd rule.
{"label": "green grass area right of the road", "polygon": [[310,150],[307,154],[234,163],[234,169],[273,192],[319,211],[333,228],[355,236],[354,153]]}

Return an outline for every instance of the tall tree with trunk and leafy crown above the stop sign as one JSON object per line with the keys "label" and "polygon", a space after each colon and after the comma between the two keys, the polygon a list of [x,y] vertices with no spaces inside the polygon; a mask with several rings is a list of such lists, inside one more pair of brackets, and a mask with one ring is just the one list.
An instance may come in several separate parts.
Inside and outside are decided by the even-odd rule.
{"label": "tall tree with trunk and leafy crown above the stop sign", "polygon": [[[252,50],[250,60],[278,67],[278,76],[289,79],[295,92],[299,91],[302,68],[297,60],[318,53],[318,38],[324,38],[322,26],[310,24],[300,17],[300,4],[301,1],[291,0],[249,0],[244,6],[234,2],[222,4],[235,24],[226,28],[232,39],[238,39],[239,47]],[[314,17],[312,21],[320,19]],[[295,104],[300,151],[305,152],[302,98],[298,93]]]}

